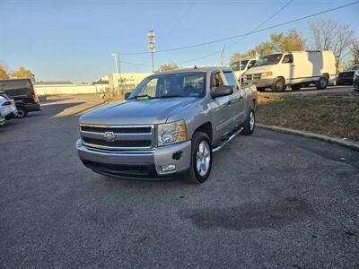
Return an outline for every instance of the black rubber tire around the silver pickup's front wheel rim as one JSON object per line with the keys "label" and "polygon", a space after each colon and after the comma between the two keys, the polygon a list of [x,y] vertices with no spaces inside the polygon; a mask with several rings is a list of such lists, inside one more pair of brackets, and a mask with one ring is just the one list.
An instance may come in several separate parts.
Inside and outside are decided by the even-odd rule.
{"label": "black rubber tire around the silver pickup's front wheel rim", "polygon": [[[197,169],[197,151],[201,143],[206,143],[209,149],[209,167],[206,169],[205,174],[201,174],[203,171],[198,171]],[[204,183],[211,173],[212,161],[212,145],[208,135],[203,132],[196,132],[192,137],[191,165],[188,169],[188,179],[196,184]],[[200,166],[200,168],[202,168],[202,166]]]}

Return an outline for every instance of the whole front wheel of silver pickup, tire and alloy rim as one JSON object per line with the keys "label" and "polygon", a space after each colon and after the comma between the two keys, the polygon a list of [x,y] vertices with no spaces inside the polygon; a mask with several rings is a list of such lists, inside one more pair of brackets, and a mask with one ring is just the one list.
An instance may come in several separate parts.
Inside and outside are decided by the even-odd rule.
{"label": "whole front wheel of silver pickup, tire and alloy rim", "polygon": [[188,178],[200,184],[206,181],[212,169],[212,146],[206,133],[196,132],[192,137],[191,165]]}

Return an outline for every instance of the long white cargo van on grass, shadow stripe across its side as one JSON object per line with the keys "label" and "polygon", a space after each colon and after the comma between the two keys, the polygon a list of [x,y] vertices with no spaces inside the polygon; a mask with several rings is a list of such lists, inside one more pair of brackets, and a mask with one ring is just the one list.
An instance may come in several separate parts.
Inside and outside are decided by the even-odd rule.
{"label": "long white cargo van on grass, shadow stripe across its side", "polygon": [[285,91],[287,85],[298,91],[302,84],[315,83],[318,90],[324,90],[328,80],[335,76],[333,52],[293,51],[259,57],[257,63],[243,75],[243,84],[253,83],[258,91],[265,91],[266,88]]}

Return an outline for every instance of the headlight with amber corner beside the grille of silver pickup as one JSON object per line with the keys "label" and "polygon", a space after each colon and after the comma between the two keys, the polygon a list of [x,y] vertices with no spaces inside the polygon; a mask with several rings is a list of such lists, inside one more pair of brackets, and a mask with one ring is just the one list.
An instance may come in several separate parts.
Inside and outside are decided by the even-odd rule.
{"label": "headlight with amber corner beside the grille of silver pickup", "polygon": [[157,143],[159,146],[179,143],[186,140],[187,131],[184,120],[158,125]]}

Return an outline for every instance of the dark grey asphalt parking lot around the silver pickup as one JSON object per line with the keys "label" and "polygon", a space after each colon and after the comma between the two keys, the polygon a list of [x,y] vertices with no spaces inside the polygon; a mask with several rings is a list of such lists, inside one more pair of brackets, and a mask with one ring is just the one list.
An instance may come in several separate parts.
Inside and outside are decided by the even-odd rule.
{"label": "dark grey asphalt parking lot around the silver pickup", "polygon": [[106,178],[74,151],[99,105],[0,127],[1,268],[358,268],[359,152],[258,128],[200,186]]}

